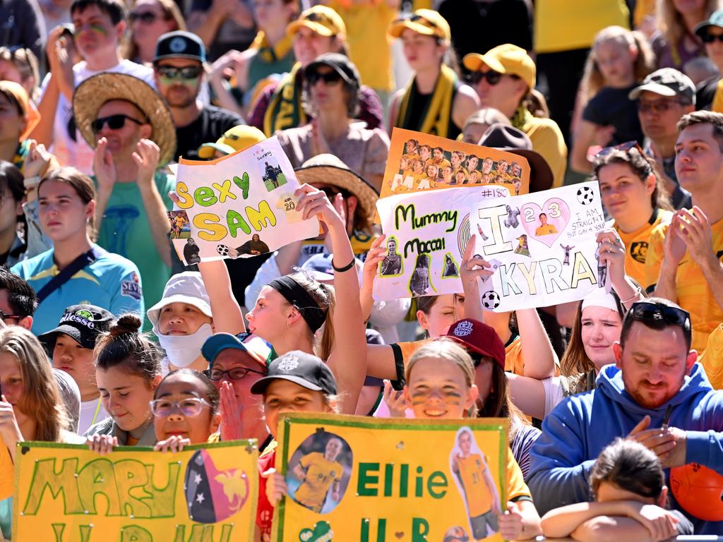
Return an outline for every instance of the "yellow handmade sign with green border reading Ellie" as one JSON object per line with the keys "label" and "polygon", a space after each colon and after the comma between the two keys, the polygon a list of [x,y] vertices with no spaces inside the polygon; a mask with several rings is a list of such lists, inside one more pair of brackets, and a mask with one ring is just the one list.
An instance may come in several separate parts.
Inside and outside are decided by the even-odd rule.
{"label": "yellow handmade sign with green border reading Ellie", "polygon": [[522,481],[506,419],[294,414],[281,428],[274,541],[502,540],[497,512]]}

